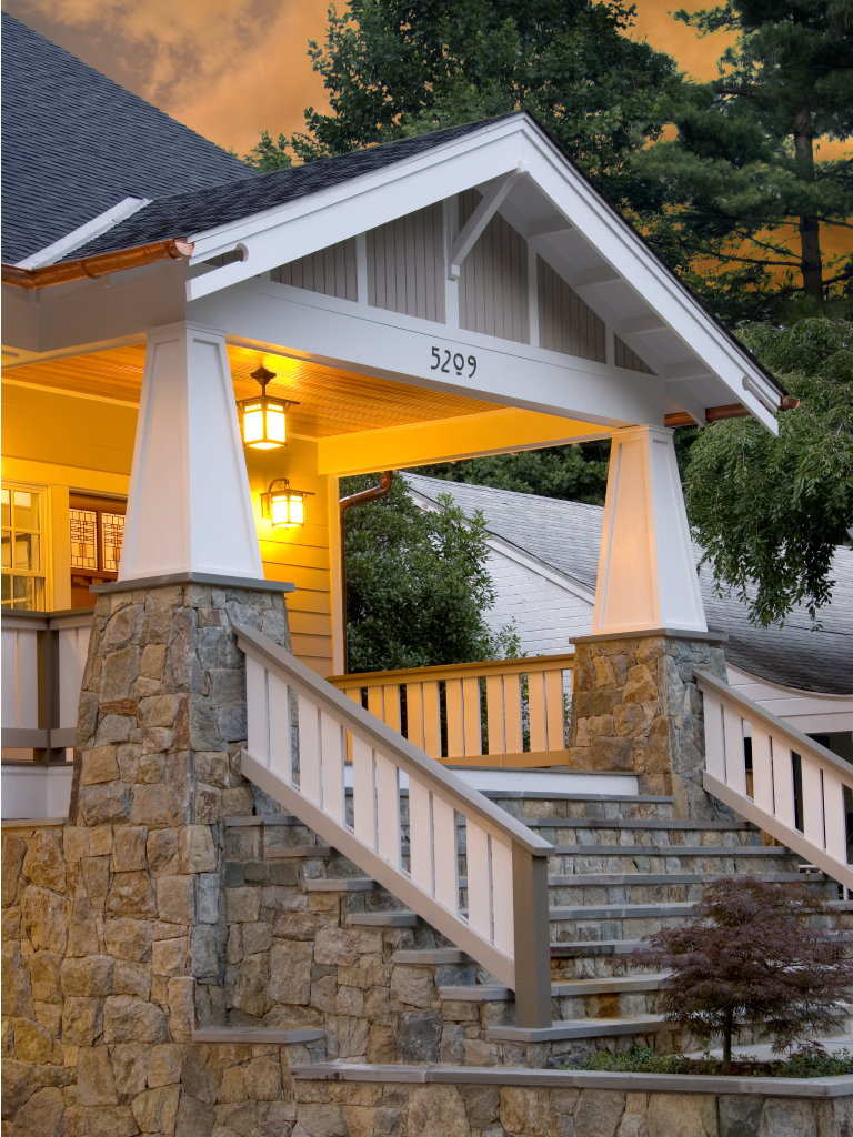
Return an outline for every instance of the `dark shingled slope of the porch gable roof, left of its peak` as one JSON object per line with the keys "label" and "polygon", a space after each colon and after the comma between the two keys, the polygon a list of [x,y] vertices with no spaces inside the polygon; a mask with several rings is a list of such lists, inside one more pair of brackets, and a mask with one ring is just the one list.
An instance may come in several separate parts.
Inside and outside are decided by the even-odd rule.
{"label": "dark shingled slope of the porch gable roof, left of its peak", "polygon": [[452,126],[446,131],[399,139],[396,142],[386,142],[383,146],[368,147],[366,150],[354,150],[351,153],[307,163],[292,169],[279,169],[250,182],[241,179],[230,185],[217,185],[215,189],[162,198],[121,225],[116,225],[109,233],[78,249],[73,257],[111,252],[115,249],[165,241],[174,236],[189,236],[191,233],[241,221],[264,209],[285,205],[297,198],[307,197],[318,190],[339,185],[362,174],[370,174],[383,166],[424,153],[456,138],[481,130],[482,126],[482,123]]}

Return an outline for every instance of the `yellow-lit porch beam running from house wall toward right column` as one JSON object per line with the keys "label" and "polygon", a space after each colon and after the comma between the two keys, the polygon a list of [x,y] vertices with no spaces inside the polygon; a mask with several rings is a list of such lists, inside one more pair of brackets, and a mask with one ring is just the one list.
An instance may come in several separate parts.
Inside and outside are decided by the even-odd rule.
{"label": "yellow-lit porch beam running from house wall toward right column", "polygon": [[401,470],[608,437],[606,428],[505,407],[481,415],[321,438],[317,473],[343,478],[373,470]]}

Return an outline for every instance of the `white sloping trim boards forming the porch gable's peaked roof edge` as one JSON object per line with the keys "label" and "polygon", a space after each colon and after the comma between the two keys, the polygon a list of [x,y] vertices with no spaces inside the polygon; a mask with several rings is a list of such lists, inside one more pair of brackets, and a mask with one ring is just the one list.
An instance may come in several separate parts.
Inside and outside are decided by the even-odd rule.
{"label": "white sloping trim boards forming the porch gable's peaked roof edge", "polygon": [[[689,289],[655,256],[640,235],[624,221],[619,211],[593,186],[593,184],[566,161],[564,155],[558,150],[555,143],[552,142],[544,131],[523,111],[520,111],[510,118],[502,119],[495,124],[485,124],[481,128],[472,131],[462,138],[453,139],[447,143],[433,147],[420,155],[400,159],[399,161],[389,164],[388,166],[382,166],[378,171],[372,171],[349,181],[341,182],[336,186],[320,190],[314,194],[306,194],[301,198],[297,198],[295,201],[272,207],[271,209],[266,209],[258,214],[252,214],[238,222],[231,222],[207,231],[193,233],[189,239],[196,244],[196,250],[190,263],[198,263],[200,260],[208,259],[212,256],[216,256],[218,252],[226,249],[233,249],[241,241],[245,241],[248,244],[251,242],[251,238],[259,233],[270,233],[273,229],[288,225],[301,218],[307,218],[309,215],[334,207],[343,200],[351,204],[355,198],[362,194],[381,190],[389,184],[401,181],[405,177],[420,175],[423,172],[429,171],[431,167],[437,166],[439,163],[470,153],[486,142],[497,142],[512,135],[516,135],[519,142],[522,144],[521,157],[523,159],[540,158],[544,160],[545,167],[543,167],[543,173],[545,174],[550,172],[556,174],[560,182],[562,182],[563,185],[575,194],[580,207],[589,210],[593,215],[589,221],[595,221],[604,226],[610,238],[608,243],[613,244],[615,242],[618,247],[610,250],[602,249],[601,243],[588,235],[587,239],[595,246],[599,256],[605,262],[611,264],[614,271],[616,271],[630,287],[637,289],[643,296],[644,301],[653,310],[657,312],[668,326],[672,327],[671,314],[668,319],[666,314],[659,310],[653,299],[651,299],[647,294],[646,290],[640,287],[638,282],[631,280],[631,275],[633,275],[631,272],[632,266],[630,264],[618,265],[614,262],[619,260],[620,255],[622,257],[627,255],[629,259],[633,260],[633,266],[639,272],[648,274],[652,280],[647,280],[645,283],[652,284],[654,282],[654,284],[662,290],[664,297],[668,296],[671,301],[679,306],[684,315],[688,317],[688,322],[693,323],[694,331],[698,333],[702,339],[704,339],[705,347],[713,347],[712,354],[718,357],[718,366],[710,364],[706,358],[706,352],[703,352],[699,346],[693,342],[693,339],[689,335],[689,327],[684,331],[678,331],[678,329],[674,327],[672,327],[672,330],[677,331],[677,333],[685,339],[690,350],[711,367],[712,373],[729,388],[734,398],[743,402],[746,409],[765,428],[765,430],[772,434],[778,434],[778,423],[773,414],[770,409],[768,409],[764,400],[757,397],[754,391],[760,390],[762,393],[768,396],[772,391],[773,398],[769,399],[769,401],[772,402],[775,408],[778,407],[779,392],[771,385],[769,379],[764,375],[763,371],[759,368],[755,360],[748,355],[745,348],[736,341],[729,339],[728,334],[720,329],[717,321],[702,307]],[[512,157],[512,159],[508,155],[506,157],[506,169],[500,171],[504,173],[517,168],[517,155]],[[491,177],[496,176],[497,173],[497,171],[489,172],[485,179],[481,179],[479,182],[472,184],[480,184],[482,181],[489,181]],[[530,174],[535,174],[532,168],[530,169]],[[544,196],[550,200],[557,213],[572,221],[557,200],[560,197],[560,184],[553,184],[553,192],[550,192],[539,179],[535,176],[533,180]],[[450,188],[449,192],[453,193],[456,192],[456,190]],[[446,196],[447,193],[439,193],[433,197],[432,200],[439,200],[441,197]],[[357,216],[358,210],[353,209],[351,214]],[[573,224],[577,222],[573,222]],[[354,231],[353,234],[347,235],[356,234]],[[325,247],[329,243],[334,243],[336,241],[343,239],[345,235],[342,233],[340,235],[330,235],[324,239],[322,246],[317,244],[317,248]],[[308,250],[307,248],[299,249],[295,256],[305,256],[308,251],[312,250]],[[611,254],[610,256],[608,251]],[[188,300],[199,299],[210,292],[230,288],[243,279],[257,275],[258,272],[263,272],[267,267],[270,266],[254,262],[254,258],[249,255],[249,257],[242,262],[225,265],[214,272],[189,280],[187,282]],[[721,374],[720,371],[720,365],[723,364],[723,370],[727,372],[724,375]],[[750,384],[752,390],[750,387],[745,387],[743,384],[744,375],[754,381],[754,383]]]}

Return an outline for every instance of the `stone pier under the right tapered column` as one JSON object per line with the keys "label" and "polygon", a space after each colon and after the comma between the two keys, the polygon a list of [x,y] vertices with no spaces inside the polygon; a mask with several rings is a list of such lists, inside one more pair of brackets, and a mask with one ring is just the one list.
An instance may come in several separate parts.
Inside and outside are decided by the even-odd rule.
{"label": "stone pier under the right tapered column", "polygon": [[694,667],[726,682],[721,644],[687,633],[575,641],[570,767],[637,773],[640,794],[674,795],[677,818],[728,815],[702,788],[704,720]]}

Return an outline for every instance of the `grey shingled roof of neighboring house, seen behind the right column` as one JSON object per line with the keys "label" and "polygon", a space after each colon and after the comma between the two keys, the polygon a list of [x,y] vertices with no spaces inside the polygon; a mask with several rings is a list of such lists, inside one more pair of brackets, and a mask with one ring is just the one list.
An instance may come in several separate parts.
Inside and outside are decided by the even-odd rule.
{"label": "grey shingled roof of neighboring house, seen behind the right column", "polygon": [[[517,493],[488,485],[449,482],[405,474],[412,489],[434,501],[449,493],[472,516],[482,511],[488,529],[540,561],[595,590],[604,509],[580,501]],[[696,559],[701,555],[695,548]],[[734,596],[720,597],[707,565],[699,590],[709,628],[728,634],[729,663],[798,690],[829,695],[853,692],[853,549],[836,550],[831,575],[833,603],[821,609],[822,630],[812,630],[805,608],[796,608],[782,628],[755,628],[746,607]]]}

